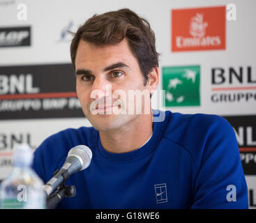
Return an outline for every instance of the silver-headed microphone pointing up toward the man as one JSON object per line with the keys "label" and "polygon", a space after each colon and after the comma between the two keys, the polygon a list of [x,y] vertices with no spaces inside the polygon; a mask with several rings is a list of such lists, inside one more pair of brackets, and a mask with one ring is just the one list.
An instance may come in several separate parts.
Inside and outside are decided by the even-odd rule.
{"label": "silver-headed microphone pointing up toward the man", "polygon": [[89,167],[91,157],[91,149],[87,146],[80,145],[71,148],[61,169],[43,185],[46,194],[50,195],[63,181],[67,180],[70,175]]}

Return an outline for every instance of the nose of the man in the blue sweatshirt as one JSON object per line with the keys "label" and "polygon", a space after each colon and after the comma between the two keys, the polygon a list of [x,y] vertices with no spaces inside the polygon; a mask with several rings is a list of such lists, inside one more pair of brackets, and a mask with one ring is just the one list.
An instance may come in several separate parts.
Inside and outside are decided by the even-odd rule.
{"label": "nose of the man in the blue sweatshirt", "polygon": [[91,88],[91,95],[96,95],[96,98],[107,97],[112,92],[112,85],[102,77],[96,77]]}

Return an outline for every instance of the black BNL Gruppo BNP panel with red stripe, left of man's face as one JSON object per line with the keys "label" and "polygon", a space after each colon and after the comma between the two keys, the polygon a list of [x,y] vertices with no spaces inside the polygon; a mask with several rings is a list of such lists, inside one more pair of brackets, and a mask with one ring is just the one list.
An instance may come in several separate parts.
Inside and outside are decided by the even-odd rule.
{"label": "black BNL Gruppo BNP panel with red stripe, left of man's face", "polygon": [[0,119],[83,116],[71,64],[0,67]]}

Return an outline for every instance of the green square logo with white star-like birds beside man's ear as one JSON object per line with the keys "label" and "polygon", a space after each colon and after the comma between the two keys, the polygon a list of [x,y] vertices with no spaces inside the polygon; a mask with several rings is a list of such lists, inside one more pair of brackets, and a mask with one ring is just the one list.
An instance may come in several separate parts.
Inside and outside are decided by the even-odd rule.
{"label": "green square logo with white star-like birds beside man's ear", "polygon": [[165,107],[200,105],[200,66],[163,67]]}

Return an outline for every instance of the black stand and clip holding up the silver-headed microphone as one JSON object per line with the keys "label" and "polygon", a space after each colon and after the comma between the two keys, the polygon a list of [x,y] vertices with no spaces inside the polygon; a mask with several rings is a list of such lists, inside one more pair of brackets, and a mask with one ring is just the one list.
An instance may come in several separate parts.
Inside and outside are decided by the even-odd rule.
{"label": "black stand and clip holding up the silver-headed microphone", "polygon": [[[57,174],[59,169],[57,169],[54,172],[54,175]],[[57,187],[56,192],[53,194],[50,194],[47,199],[46,199],[46,208],[47,209],[54,209],[57,207],[58,203],[64,198],[64,197],[75,197],[76,194],[76,189],[74,185],[65,185],[66,183],[66,178],[63,176],[63,183]]]}

